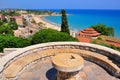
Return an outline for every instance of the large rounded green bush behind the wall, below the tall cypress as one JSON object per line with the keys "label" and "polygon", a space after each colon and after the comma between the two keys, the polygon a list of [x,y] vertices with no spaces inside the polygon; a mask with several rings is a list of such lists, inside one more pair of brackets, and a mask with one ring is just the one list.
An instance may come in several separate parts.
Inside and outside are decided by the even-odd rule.
{"label": "large rounded green bush behind the wall, below the tall cypress", "polygon": [[31,44],[45,43],[45,42],[56,42],[56,41],[78,41],[76,38],[70,35],[58,32],[53,29],[42,29],[32,37]]}

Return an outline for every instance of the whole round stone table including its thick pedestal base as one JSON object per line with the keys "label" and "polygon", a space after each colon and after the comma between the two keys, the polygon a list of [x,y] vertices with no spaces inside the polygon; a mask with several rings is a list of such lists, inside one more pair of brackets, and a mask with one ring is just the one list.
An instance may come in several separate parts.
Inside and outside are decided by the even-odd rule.
{"label": "whole round stone table including its thick pedestal base", "polygon": [[84,59],[78,54],[60,53],[52,58],[57,69],[57,80],[82,80],[79,72],[84,66]]}

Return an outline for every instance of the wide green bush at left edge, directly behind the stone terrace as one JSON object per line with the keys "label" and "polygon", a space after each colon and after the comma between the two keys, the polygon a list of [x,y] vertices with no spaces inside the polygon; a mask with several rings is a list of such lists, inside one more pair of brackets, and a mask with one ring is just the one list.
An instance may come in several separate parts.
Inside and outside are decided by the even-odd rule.
{"label": "wide green bush at left edge, directly behind the stone terrace", "polygon": [[21,48],[29,45],[29,39],[23,39],[10,35],[0,35],[0,52],[2,52],[4,48]]}

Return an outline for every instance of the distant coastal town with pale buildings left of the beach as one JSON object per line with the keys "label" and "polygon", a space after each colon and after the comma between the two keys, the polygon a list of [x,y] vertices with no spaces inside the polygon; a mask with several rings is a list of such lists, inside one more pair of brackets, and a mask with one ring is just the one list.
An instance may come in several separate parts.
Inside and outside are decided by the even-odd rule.
{"label": "distant coastal town with pale buildings left of the beach", "polygon": [[0,20],[3,22],[15,22],[18,29],[14,30],[14,35],[17,37],[30,37],[42,28],[46,28],[45,24],[40,22],[42,16],[59,16],[59,13],[51,11],[35,11],[35,10],[0,10]]}

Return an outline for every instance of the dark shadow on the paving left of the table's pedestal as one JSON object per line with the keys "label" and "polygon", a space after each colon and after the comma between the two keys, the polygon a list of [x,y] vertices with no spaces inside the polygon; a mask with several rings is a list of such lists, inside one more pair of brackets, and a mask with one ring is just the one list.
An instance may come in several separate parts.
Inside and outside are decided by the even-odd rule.
{"label": "dark shadow on the paving left of the table's pedestal", "polygon": [[57,70],[55,68],[51,68],[46,72],[46,77],[48,80],[56,80],[57,78]]}

